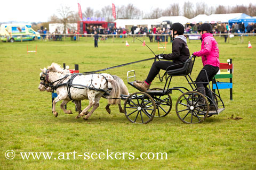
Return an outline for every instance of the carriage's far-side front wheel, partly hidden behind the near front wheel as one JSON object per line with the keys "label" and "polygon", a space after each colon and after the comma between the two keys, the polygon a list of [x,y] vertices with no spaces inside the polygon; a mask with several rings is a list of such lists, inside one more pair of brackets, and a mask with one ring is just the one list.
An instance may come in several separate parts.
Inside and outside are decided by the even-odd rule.
{"label": "carriage's far-side front wheel, partly hidden behind the near front wheel", "polygon": [[[151,90],[163,90],[163,89],[153,88]],[[154,95],[153,99],[155,100],[155,103],[156,103],[155,117],[164,117],[171,112],[172,98],[169,94],[164,96]]]}

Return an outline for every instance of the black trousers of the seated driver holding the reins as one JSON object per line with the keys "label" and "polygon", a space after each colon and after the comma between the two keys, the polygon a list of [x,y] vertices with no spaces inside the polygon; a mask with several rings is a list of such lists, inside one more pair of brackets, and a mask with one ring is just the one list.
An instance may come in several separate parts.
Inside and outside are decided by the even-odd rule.
{"label": "black trousers of the seated driver holding the reins", "polygon": [[[171,65],[175,65],[175,63],[170,62],[170,61],[156,61],[152,64],[151,69],[148,73],[148,77],[145,80],[148,84],[150,84],[154,78],[156,77],[156,75],[159,73],[159,71],[162,70],[166,70],[167,67],[171,66]],[[180,67],[182,67],[183,64],[178,65],[178,66],[173,66],[170,70],[174,70],[174,69],[178,69]]]}

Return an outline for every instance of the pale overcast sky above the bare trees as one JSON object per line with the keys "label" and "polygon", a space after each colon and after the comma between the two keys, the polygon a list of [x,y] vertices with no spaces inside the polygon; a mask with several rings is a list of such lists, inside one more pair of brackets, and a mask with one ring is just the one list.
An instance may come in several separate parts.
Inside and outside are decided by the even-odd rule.
{"label": "pale overcast sky above the bare trees", "polygon": [[[211,0],[211,1],[202,1],[202,0],[179,0],[179,6],[182,8],[184,2],[190,1],[196,6],[197,2],[205,2],[209,7],[210,6],[235,6],[243,5],[247,6],[250,3],[256,4],[254,0],[231,0],[231,1],[223,1],[223,0]],[[63,6],[69,6],[71,10],[77,12],[78,7],[77,3],[81,4],[82,12],[84,12],[86,7],[91,7],[95,11],[100,10],[102,7],[107,5],[112,5],[114,3],[117,6],[127,5],[129,3],[143,10],[143,12],[148,13],[150,10],[159,7],[161,9],[165,9],[171,3],[177,3],[177,1],[166,1],[166,0],[128,0],[128,1],[109,1],[109,0],[92,0],[92,1],[77,1],[77,0],[10,0],[10,1],[1,1],[1,9],[0,9],[0,22],[9,22],[9,21],[19,21],[19,22],[46,22],[52,14],[57,14],[57,8],[62,4]],[[102,16],[104,17],[104,16]]]}

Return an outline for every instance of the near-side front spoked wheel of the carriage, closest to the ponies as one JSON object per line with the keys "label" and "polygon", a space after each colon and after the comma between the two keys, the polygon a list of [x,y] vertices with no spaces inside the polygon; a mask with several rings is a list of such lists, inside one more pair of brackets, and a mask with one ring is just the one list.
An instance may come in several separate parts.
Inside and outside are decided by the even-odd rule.
{"label": "near-side front spoked wheel of the carriage, closest to the ponies", "polygon": [[135,92],[124,102],[124,114],[132,123],[148,123],[153,120],[155,112],[155,101],[145,92]]}

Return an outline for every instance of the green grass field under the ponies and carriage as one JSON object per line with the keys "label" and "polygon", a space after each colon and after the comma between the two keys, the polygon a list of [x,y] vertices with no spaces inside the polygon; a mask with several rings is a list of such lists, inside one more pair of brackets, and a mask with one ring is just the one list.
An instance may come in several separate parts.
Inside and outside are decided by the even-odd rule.
{"label": "green grass field under the ponies and carriage", "polygon": [[[70,69],[79,64],[79,71],[86,72],[154,57],[138,40],[132,43],[132,39],[127,39],[130,46],[126,47],[122,39],[115,39],[115,43],[108,39],[100,41],[99,48],[94,48],[92,38],[0,43],[0,169],[255,169],[256,37],[244,37],[244,43],[239,37],[231,38],[230,43],[224,43],[222,37],[216,39],[220,62],[233,58],[233,101],[229,100],[229,89],[220,90],[225,111],[200,124],[184,124],[177,117],[175,103],[180,92],[171,94],[170,114],[155,117],[148,124],[130,123],[118,112],[117,106],[111,106],[111,114],[108,114],[107,100],[103,98],[88,121],[74,118],[77,113],[73,103],[67,106],[73,115],[63,113],[58,103],[59,116],[54,117],[51,94],[38,90],[40,68],[52,62],[66,63]],[[253,48],[247,48],[248,41]],[[157,43],[149,43],[148,38],[146,43],[156,54],[163,53],[157,50]],[[29,50],[35,50],[37,45],[37,54],[27,55],[27,45]],[[188,46],[193,53],[201,48],[201,43],[190,41]],[[171,43],[167,44],[164,53],[171,53],[171,48]],[[152,62],[127,65],[107,73],[121,77],[132,93],[137,90],[127,84],[126,72],[135,70],[137,79],[143,80]],[[201,58],[197,58],[193,79],[201,69]],[[155,79],[151,87],[163,86],[163,82]],[[185,78],[179,77],[173,78],[171,86],[188,87],[188,84]],[[82,101],[83,108],[87,104],[87,100]],[[242,119],[233,120],[232,115]],[[5,157],[7,150],[15,152],[13,159]],[[119,152],[121,156],[106,159],[107,150],[114,154]],[[75,154],[68,158],[66,153],[74,151],[76,159]],[[43,156],[23,160],[20,152],[53,152],[53,155],[51,160]],[[98,155],[103,152],[105,156],[102,154],[101,158],[105,159],[77,156],[85,152]],[[140,158],[143,152],[166,152],[167,159],[156,159],[156,156],[151,159],[153,154],[149,154],[149,158],[143,155],[147,158],[143,159]],[[124,153],[133,153],[133,157]]]}

